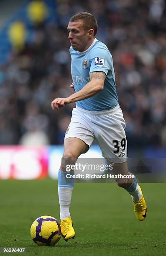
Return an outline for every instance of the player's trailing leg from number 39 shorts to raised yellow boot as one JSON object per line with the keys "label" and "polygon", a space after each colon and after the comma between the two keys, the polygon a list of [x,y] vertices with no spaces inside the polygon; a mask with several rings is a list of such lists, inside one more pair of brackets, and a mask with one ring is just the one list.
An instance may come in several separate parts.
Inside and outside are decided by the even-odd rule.
{"label": "player's trailing leg from number 39 shorts to raised yellow boot", "polygon": [[[97,139],[102,155],[113,162],[113,174],[129,175],[127,167],[127,143],[125,136],[125,120],[121,109],[94,118],[95,138]],[[136,177],[116,179],[118,186],[123,187],[132,196],[134,211],[138,220],[146,217],[146,203]]]}

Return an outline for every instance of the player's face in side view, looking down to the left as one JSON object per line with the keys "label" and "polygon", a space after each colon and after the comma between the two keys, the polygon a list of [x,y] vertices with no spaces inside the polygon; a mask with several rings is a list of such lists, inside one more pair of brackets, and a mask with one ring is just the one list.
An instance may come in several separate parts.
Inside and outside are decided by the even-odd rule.
{"label": "player's face in side view, looking down to the left", "polygon": [[71,46],[75,51],[85,51],[89,48],[89,31],[84,30],[82,20],[69,22],[67,30]]}

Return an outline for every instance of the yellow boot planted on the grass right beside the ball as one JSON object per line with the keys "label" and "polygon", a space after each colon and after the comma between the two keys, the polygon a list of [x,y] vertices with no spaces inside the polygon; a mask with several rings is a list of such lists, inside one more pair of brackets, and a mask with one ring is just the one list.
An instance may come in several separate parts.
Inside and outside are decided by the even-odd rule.
{"label": "yellow boot planted on the grass right beside the ball", "polygon": [[68,239],[75,237],[75,231],[73,228],[73,222],[71,218],[62,219],[60,222],[61,233],[64,240],[67,242]]}

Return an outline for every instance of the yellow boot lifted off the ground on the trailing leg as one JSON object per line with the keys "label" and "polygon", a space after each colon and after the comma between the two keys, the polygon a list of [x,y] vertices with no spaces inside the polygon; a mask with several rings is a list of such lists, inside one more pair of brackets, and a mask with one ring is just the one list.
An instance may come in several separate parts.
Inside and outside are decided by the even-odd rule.
{"label": "yellow boot lifted off the ground on the trailing leg", "polygon": [[138,220],[145,220],[146,215],[147,215],[146,202],[145,202],[145,199],[143,198],[143,193],[142,193],[140,186],[138,186],[138,187],[141,192],[141,197],[140,197],[139,202],[133,201],[134,213],[135,213],[135,216],[138,218]]}

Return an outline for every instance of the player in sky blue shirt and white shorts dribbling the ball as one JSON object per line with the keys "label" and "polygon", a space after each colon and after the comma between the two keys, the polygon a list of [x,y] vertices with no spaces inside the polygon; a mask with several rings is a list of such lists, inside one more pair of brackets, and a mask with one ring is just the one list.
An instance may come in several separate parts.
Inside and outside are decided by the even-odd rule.
{"label": "player in sky blue shirt and white shorts dribbling the ball", "polygon": [[[74,179],[66,178],[66,164],[75,164],[80,154],[86,153],[96,139],[102,156],[113,159],[113,174],[129,175],[125,120],[118,104],[112,56],[107,46],[95,38],[97,20],[90,13],[78,13],[69,20],[67,30],[72,57],[73,83],[70,87],[75,92],[51,102],[53,110],[76,102],[65,134],[58,173],[61,229],[66,241],[75,236],[69,212]],[[145,220],[146,202],[136,177],[117,179],[116,182],[131,195],[138,220]]]}

